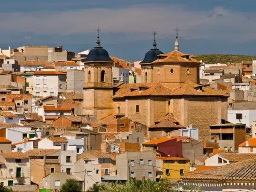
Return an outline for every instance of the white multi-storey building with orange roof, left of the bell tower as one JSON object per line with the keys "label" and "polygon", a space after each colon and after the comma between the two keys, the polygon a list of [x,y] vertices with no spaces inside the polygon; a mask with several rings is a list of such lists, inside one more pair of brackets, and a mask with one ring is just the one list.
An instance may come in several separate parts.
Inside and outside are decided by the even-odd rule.
{"label": "white multi-storey building with orange roof, left of the bell tower", "polygon": [[66,73],[58,71],[35,71],[33,91],[35,97],[58,96],[66,91]]}

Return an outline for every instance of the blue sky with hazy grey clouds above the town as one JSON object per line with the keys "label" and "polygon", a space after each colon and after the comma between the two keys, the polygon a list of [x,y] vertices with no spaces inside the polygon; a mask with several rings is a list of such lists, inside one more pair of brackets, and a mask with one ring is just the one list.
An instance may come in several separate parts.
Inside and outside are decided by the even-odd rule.
{"label": "blue sky with hazy grey clouds above the town", "polygon": [[0,47],[95,46],[97,23],[110,55],[142,60],[153,31],[162,52],[256,55],[254,0],[14,0],[1,2]]}

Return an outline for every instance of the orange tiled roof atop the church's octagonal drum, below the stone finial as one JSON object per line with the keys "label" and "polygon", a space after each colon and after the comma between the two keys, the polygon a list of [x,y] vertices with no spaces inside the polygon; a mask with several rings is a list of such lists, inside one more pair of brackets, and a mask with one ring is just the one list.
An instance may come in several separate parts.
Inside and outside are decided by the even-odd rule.
{"label": "orange tiled roof atop the church's octagonal drum, below the stone finial", "polygon": [[[186,55],[189,56],[189,59],[186,59]],[[197,61],[194,58],[194,55],[189,55],[189,54],[184,54],[180,51],[174,50],[172,52],[169,52],[167,54],[161,54],[159,55],[160,58],[153,61],[152,63],[161,63],[161,62],[189,62],[189,63],[195,63],[195,64],[200,64],[199,61]]]}

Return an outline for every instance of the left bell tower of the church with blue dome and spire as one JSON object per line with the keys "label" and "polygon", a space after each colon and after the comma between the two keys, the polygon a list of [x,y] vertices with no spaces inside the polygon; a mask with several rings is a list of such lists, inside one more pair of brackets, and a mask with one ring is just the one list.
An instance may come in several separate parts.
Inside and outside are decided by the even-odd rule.
{"label": "left bell tower of the church with blue dome and spire", "polygon": [[84,61],[84,114],[99,121],[113,112],[113,61],[100,45],[99,27],[96,47]]}

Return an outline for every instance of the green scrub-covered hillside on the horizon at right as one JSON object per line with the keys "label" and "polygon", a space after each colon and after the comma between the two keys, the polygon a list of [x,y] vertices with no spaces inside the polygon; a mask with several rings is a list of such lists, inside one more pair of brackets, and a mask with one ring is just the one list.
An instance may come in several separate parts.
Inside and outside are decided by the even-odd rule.
{"label": "green scrub-covered hillside on the horizon at right", "polygon": [[252,55],[225,55],[225,54],[206,54],[206,55],[195,55],[195,58],[200,61],[203,60],[205,64],[213,63],[241,63],[241,61],[252,61],[256,56]]}

